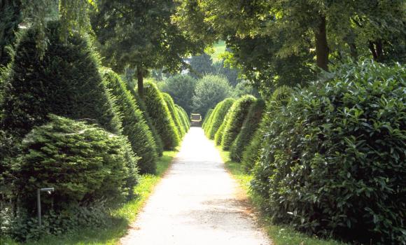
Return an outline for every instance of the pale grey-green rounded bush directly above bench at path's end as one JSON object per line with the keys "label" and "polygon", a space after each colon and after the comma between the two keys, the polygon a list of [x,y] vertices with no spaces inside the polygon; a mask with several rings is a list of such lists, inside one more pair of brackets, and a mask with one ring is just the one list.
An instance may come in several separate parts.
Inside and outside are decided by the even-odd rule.
{"label": "pale grey-green rounded bush directly above bench at path's end", "polygon": [[227,98],[231,87],[227,79],[220,76],[208,75],[197,81],[193,108],[196,113],[205,115],[218,102]]}

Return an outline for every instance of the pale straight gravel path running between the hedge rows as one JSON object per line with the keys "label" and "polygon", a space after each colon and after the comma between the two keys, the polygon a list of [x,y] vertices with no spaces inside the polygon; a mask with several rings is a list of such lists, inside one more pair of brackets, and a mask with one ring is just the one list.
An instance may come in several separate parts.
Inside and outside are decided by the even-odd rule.
{"label": "pale straight gravel path running between the hedge rows", "polygon": [[270,245],[214,145],[192,127],[122,244]]}

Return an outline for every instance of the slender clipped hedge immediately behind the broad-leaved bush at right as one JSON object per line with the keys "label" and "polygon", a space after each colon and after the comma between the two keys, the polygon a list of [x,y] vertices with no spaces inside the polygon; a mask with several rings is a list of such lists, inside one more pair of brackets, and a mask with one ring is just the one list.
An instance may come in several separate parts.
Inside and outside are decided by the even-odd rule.
{"label": "slender clipped hedge immediately behind the broad-leaved bush at right", "polygon": [[244,153],[242,153],[241,164],[244,166],[246,172],[251,172],[255,165],[255,162],[257,162],[260,157],[260,151],[262,150],[262,141],[264,139],[263,130],[272,121],[272,113],[269,113],[269,111],[271,111],[271,109],[279,109],[281,106],[286,106],[292,93],[293,89],[286,85],[278,87],[273,92],[271,96],[272,99],[269,102],[267,109],[265,109],[265,113],[263,113],[258,129],[253,134],[253,138],[251,139],[250,144],[246,146]]}

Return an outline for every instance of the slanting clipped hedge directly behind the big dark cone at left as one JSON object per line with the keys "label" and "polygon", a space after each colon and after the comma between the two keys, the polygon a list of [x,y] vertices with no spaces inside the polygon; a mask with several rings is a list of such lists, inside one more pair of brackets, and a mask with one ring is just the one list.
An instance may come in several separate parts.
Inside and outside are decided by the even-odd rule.
{"label": "slanting clipped hedge directly behind the big dark cone at left", "polygon": [[137,102],[114,71],[104,69],[102,73],[105,85],[112,94],[113,104],[120,111],[123,134],[128,137],[132,151],[141,158],[139,172],[154,174],[158,160],[157,146]]}

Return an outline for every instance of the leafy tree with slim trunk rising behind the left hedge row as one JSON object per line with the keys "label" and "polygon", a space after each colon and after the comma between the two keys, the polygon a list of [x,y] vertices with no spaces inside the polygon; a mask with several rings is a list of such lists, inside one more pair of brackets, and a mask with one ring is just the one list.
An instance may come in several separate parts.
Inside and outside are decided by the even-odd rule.
{"label": "leafy tree with slim trunk rising behind the left hedge row", "polygon": [[117,72],[127,66],[137,68],[141,97],[148,69],[165,66],[168,71],[179,71],[184,66],[183,55],[204,49],[203,43],[174,25],[175,7],[172,0],[102,0],[91,16],[104,63]]}

